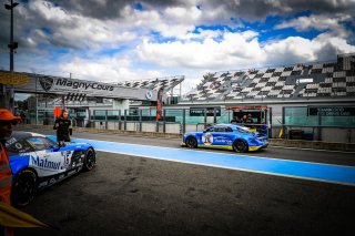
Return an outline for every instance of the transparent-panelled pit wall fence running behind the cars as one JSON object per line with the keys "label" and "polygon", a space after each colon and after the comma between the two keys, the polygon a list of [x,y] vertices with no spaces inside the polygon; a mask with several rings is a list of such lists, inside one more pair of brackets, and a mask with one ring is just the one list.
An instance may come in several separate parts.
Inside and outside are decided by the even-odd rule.
{"label": "transparent-panelled pit wall fence running behind the cars", "polygon": [[[252,117],[254,126],[266,126],[273,138],[305,140],[355,143],[354,116],[322,116],[306,107],[283,107],[280,113]],[[69,110],[73,126],[98,130],[120,130],[183,134],[202,131],[212,124],[230,123],[232,110],[212,109],[164,109],[162,120],[156,120],[154,109],[115,110]],[[24,123],[51,125],[52,111],[30,113]],[[338,122],[338,123],[336,123]],[[243,124],[243,123],[242,123]]]}

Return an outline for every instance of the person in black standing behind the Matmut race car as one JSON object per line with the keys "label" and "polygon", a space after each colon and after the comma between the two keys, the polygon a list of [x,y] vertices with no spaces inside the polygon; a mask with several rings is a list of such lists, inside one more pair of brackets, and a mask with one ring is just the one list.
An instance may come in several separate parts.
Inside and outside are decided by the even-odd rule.
{"label": "person in black standing behind the Matmut race car", "polygon": [[60,145],[61,142],[70,142],[70,135],[72,135],[71,121],[68,117],[68,111],[63,110],[59,119],[55,120],[53,130],[57,130],[57,142]]}

